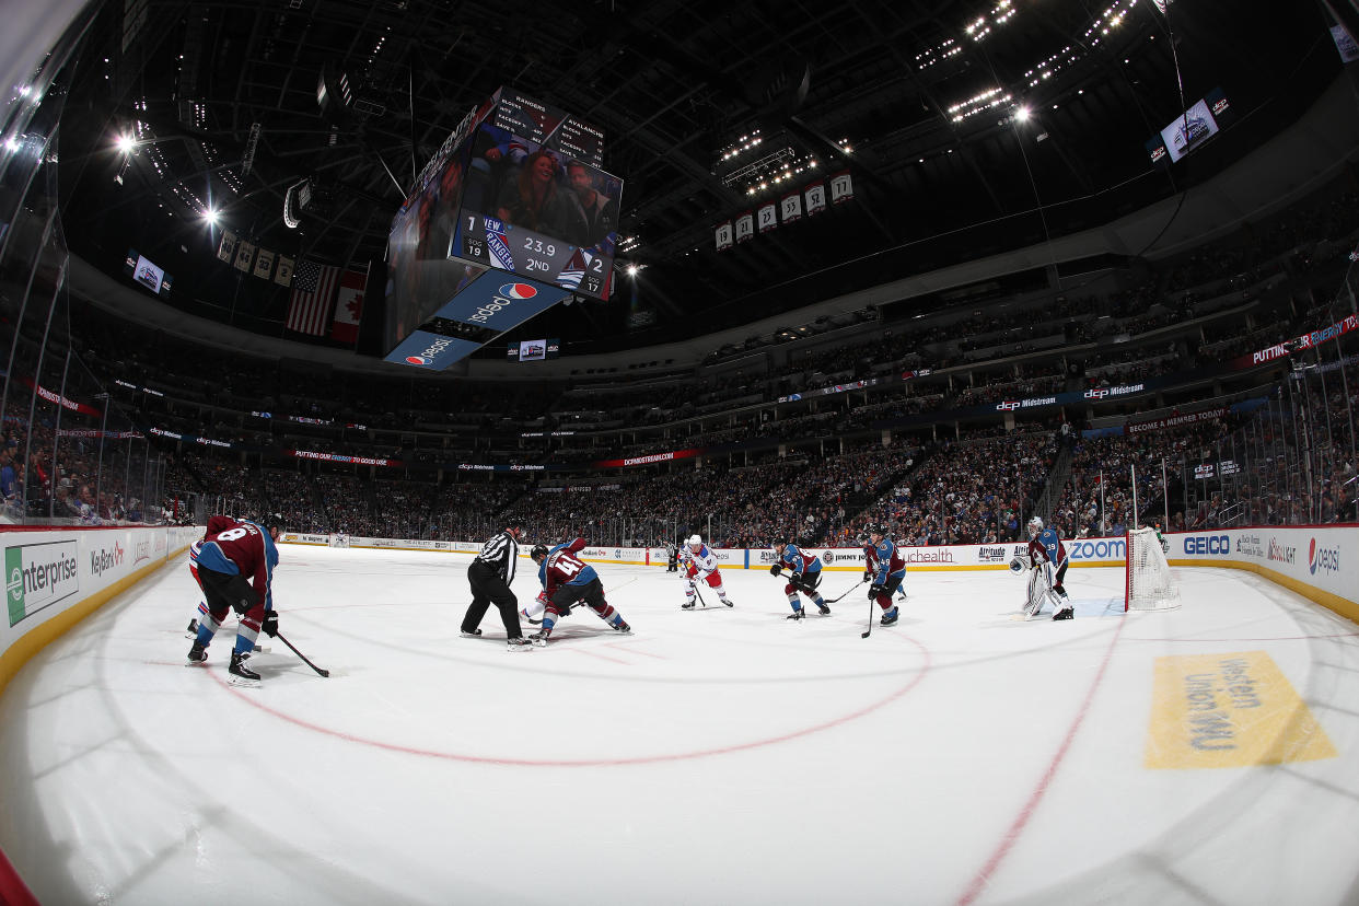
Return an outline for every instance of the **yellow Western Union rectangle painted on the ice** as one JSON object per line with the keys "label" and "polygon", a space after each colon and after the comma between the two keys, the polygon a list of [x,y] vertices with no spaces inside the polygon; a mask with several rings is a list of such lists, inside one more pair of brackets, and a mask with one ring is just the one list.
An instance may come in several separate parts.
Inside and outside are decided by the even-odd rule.
{"label": "yellow Western Union rectangle painted on the ice", "polygon": [[1335,757],[1326,732],[1268,653],[1157,659],[1147,767],[1243,767]]}

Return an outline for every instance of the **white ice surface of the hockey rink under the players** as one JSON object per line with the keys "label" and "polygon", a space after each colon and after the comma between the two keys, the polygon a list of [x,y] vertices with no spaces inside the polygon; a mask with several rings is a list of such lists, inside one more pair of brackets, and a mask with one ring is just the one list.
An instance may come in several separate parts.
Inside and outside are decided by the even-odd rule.
{"label": "white ice surface of the hockey rink under the players", "polygon": [[862,638],[864,585],[794,622],[764,570],[685,611],[597,565],[633,634],[579,609],[512,653],[493,609],[458,636],[469,561],[283,546],[330,678],[261,638],[238,689],[234,618],[185,667],[181,557],[0,698],[0,846],[61,905],[1359,899],[1359,626],[1252,573],[1125,615],[1121,569],[1072,569],[1052,622],[1008,572],[912,570]]}

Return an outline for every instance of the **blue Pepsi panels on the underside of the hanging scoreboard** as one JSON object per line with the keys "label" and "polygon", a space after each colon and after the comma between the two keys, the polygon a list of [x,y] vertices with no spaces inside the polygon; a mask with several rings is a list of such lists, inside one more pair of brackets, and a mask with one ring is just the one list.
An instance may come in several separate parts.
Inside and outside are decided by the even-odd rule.
{"label": "blue Pepsi panels on the underside of the hanging scoreboard", "polygon": [[488,270],[402,340],[385,361],[443,371],[569,295],[561,287]]}

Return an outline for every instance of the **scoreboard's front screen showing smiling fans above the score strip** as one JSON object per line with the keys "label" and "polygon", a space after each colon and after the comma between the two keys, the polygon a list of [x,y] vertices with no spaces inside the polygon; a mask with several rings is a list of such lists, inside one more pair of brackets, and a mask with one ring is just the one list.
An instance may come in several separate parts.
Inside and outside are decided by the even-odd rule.
{"label": "scoreboard's front screen showing smiling fans above the score strip", "polygon": [[466,178],[451,257],[609,297],[621,179],[491,120]]}

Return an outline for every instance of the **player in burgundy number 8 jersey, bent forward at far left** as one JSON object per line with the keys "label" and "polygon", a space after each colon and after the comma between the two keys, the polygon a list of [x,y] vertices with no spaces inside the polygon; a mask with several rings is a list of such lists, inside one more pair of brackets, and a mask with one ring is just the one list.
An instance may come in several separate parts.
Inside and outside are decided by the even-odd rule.
{"label": "player in burgundy number 8 jersey, bent forward at far left", "polygon": [[236,644],[231,652],[231,682],[258,686],[260,674],[249,667],[250,653],[260,632],[273,636],[279,632],[279,615],[273,610],[269,584],[273,568],[279,565],[275,541],[279,528],[253,522],[239,522],[209,534],[193,557],[198,565],[198,581],[207,598],[208,613],[198,623],[198,636],[189,649],[189,663],[208,660],[208,645],[226,619],[228,610],[241,614]]}

